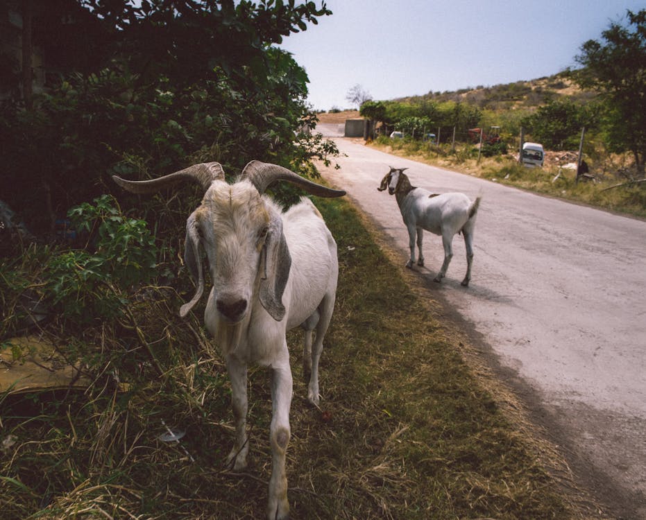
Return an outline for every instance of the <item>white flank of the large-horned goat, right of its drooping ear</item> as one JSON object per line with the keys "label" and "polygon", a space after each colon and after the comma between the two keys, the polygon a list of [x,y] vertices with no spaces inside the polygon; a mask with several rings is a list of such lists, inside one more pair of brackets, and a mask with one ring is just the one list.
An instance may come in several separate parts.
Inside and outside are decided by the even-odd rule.
{"label": "white flank of the large-horned goat, right of its drooping ear", "polygon": [[[312,201],[303,198],[283,214],[283,233],[291,255],[283,297],[287,329],[298,327],[337,289],[337,243]],[[287,301],[291,299],[291,301]]]}

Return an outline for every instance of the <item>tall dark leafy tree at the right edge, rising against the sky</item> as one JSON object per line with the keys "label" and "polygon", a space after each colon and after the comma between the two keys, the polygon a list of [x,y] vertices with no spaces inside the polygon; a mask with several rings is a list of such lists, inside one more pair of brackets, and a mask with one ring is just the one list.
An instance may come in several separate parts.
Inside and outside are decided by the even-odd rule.
{"label": "tall dark leafy tree at the right edge, rising against the sky", "polygon": [[610,24],[602,41],[588,40],[576,60],[581,87],[600,93],[606,110],[602,123],[606,144],[632,153],[643,175],[646,162],[646,9],[627,11],[628,26]]}

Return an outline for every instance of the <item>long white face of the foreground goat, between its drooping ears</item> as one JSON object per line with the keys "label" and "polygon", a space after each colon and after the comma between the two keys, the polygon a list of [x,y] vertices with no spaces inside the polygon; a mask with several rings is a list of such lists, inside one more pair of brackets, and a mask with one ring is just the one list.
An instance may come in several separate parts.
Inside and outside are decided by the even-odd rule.
{"label": "long white face of the foreground goat, between its drooping ears", "polygon": [[209,261],[212,303],[226,321],[240,322],[257,289],[269,211],[252,184],[214,182],[192,217]]}

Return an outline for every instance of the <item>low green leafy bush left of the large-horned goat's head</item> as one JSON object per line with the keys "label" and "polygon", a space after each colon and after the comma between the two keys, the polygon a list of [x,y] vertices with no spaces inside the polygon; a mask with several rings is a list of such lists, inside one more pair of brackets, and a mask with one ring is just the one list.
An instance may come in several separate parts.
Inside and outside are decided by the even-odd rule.
{"label": "low green leafy bush left of the large-horned goat's head", "polygon": [[158,248],[144,220],[124,215],[114,198],[101,196],[69,211],[85,248],[32,246],[0,263],[3,332],[28,318],[26,295],[77,325],[117,318],[128,294],[158,274]]}

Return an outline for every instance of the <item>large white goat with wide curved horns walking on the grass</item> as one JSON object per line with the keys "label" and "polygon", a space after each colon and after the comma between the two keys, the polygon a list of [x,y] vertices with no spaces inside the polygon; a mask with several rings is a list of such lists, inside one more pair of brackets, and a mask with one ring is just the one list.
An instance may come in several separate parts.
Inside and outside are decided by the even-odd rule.
{"label": "large white goat with wide curved horns walking on the grass", "polygon": [[[151,193],[176,182],[201,184],[205,195],[186,225],[185,263],[197,281],[184,317],[200,299],[205,285],[201,252],[206,252],[213,283],[204,313],[208,331],[226,358],[232,386],[235,444],[227,462],[246,467],[248,439],[247,365],[269,367],[272,375],[272,452],[267,517],[287,518],[285,454],[290,437],[292,378],[285,332],[305,329],[303,365],[310,372],[307,398],[318,405],[318,360],[332,318],[337,291],[337,244],[321,214],[308,199],[283,212],[263,193],[285,180],[323,197],[344,191],[328,189],[282,166],[252,161],[235,184],[225,181],[219,163],[196,164],[149,181],[114,177],[134,193]],[[316,339],[312,345],[312,331]]]}

